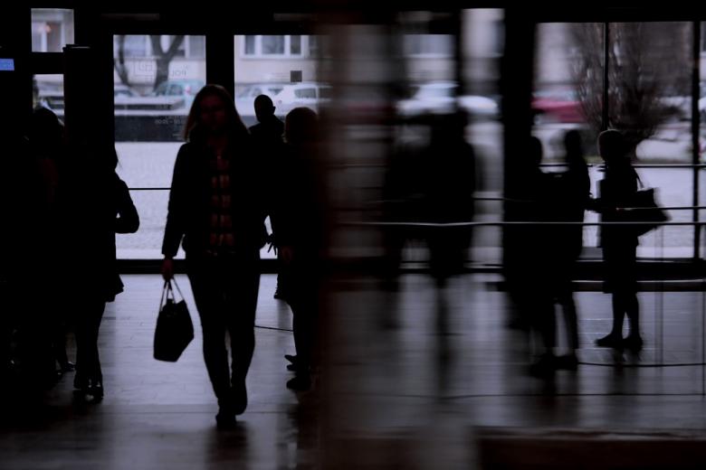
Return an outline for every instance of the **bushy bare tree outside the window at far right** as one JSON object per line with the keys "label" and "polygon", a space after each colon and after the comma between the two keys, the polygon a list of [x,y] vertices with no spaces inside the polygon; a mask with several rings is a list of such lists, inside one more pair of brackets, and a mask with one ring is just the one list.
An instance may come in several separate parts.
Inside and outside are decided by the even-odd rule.
{"label": "bushy bare tree outside the window at far right", "polygon": [[[669,23],[609,25],[608,127],[620,129],[637,146],[654,136],[689,95],[689,26]],[[603,124],[603,24],[570,28],[576,58],[574,80],[587,123]],[[678,99],[678,98],[677,98]]]}

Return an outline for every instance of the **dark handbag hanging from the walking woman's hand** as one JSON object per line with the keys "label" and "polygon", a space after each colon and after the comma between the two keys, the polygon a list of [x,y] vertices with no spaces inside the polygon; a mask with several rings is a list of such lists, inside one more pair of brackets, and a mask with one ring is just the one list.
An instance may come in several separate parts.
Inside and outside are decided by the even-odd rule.
{"label": "dark handbag hanging from the walking woman's hand", "polygon": [[[176,302],[172,282],[181,296]],[[176,280],[164,283],[155,329],[154,356],[158,361],[176,362],[194,339],[194,324]]]}

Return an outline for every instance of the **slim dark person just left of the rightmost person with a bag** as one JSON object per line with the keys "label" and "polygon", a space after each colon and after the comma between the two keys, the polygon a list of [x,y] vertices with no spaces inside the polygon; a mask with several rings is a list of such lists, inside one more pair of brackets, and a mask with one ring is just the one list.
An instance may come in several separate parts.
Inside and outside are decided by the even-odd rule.
{"label": "slim dark person just left of the rightmost person with a bag", "polygon": [[[568,171],[553,177],[550,186],[549,211],[551,220],[583,222],[590,198],[590,178],[584,159],[581,136],[570,130],[564,136]],[[583,249],[583,226],[576,224],[550,226],[548,269],[552,296],[561,305],[567,329],[568,354],[557,358],[558,369],[576,370],[578,365],[578,320],[571,280]],[[555,343],[552,341],[551,343]]]}

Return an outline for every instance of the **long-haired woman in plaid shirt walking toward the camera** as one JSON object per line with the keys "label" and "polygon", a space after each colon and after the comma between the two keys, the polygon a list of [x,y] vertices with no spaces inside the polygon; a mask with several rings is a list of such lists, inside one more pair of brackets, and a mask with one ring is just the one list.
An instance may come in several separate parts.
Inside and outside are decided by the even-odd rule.
{"label": "long-haired woman in plaid shirt walking toward the camera", "polygon": [[[204,360],[218,400],[216,423],[227,427],[247,408],[245,378],[255,347],[260,249],[267,231],[268,192],[259,178],[251,136],[233,99],[218,85],[196,95],[172,178],[162,244],[162,275],[186,251],[204,336]],[[229,371],[225,334],[230,335]]]}

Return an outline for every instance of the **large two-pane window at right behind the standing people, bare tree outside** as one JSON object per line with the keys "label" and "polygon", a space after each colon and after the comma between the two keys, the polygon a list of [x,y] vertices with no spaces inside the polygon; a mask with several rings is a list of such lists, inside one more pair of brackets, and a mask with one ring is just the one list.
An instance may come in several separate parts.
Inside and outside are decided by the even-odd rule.
{"label": "large two-pane window at right behind the standing people, bare tree outside", "polygon": [[[583,136],[596,196],[603,178],[596,137],[603,128],[615,128],[635,147],[638,174],[645,185],[657,188],[663,206],[696,202],[697,170],[689,166],[692,24],[540,24],[537,33],[533,134],[543,144],[544,170],[563,170],[563,137],[576,129]],[[692,211],[669,212],[672,221],[692,220]],[[597,220],[587,212],[587,221]],[[584,241],[597,246],[595,227],[586,229]],[[688,258],[693,243],[692,227],[664,227],[641,239],[639,254]]]}

